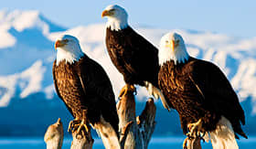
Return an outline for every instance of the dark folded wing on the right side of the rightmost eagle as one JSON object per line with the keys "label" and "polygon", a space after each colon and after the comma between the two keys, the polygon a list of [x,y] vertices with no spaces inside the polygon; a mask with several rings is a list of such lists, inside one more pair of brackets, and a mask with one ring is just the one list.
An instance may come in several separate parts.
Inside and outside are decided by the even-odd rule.
{"label": "dark folded wing on the right side of the rightmost eagle", "polygon": [[196,60],[191,66],[193,70],[189,77],[203,99],[214,106],[216,112],[229,119],[236,133],[246,137],[240,128],[240,122],[245,124],[244,112],[225,74],[216,65],[203,60]]}

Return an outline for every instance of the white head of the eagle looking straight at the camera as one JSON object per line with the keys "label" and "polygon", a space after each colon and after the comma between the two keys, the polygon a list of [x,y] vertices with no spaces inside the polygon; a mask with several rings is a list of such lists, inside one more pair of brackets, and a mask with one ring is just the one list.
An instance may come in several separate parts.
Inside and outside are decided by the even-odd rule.
{"label": "white head of the eagle looking straight at the camera", "polygon": [[158,52],[159,64],[174,60],[175,64],[184,63],[189,58],[183,38],[177,33],[167,33],[161,38]]}

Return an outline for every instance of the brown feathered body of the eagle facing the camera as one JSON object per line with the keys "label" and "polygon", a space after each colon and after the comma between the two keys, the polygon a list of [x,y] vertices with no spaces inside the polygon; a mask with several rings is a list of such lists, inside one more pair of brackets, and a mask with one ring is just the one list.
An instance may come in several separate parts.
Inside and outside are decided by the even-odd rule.
{"label": "brown feathered body of the eagle facing the camera", "polygon": [[178,64],[169,60],[161,66],[158,75],[159,87],[168,105],[179,113],[184,133],[188,123],[199,119],[204,131],[213,131],[223,115],[236,134],[247,137],[241,129],[245,116],[238,96],[216,65],[191,57]]}

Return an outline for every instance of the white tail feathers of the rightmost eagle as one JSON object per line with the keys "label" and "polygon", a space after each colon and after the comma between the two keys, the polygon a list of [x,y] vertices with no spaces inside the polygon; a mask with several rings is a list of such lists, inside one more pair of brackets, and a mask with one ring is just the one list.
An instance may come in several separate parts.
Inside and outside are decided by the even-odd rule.
{"label": "white tail feathers of the rightmost eagle", "polygon": [[213,149],[238,149],[235,133],[228,119],[221,116],[216,130],[209,133]]}

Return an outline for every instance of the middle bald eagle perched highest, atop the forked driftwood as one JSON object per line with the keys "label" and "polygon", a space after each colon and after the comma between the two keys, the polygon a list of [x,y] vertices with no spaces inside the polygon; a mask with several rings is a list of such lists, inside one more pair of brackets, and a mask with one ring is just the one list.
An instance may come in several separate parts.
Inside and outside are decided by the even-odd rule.
{"label": "middle bald eagle perched highest, atop the forked driftwood", "polygon": [[128,25],[128,15],[123,7],[109,5],[101,16],[108,18],[106,24],[108,53],[116,69],[123,74],[126,83],[119,97],[127,90],[135,90],[133,85],[138,84],[145,86],[155,98],[160,97],[164,100],[157,83],[158,49]]}

